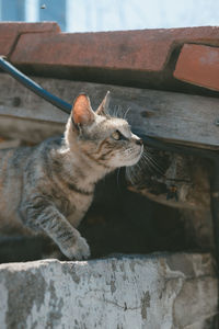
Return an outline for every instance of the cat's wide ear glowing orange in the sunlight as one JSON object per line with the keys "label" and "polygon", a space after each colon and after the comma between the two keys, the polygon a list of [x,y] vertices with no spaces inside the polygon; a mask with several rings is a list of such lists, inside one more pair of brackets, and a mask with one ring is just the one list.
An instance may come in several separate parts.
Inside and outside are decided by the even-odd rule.
{"label": "cat's wide ear glowing orange in the sunlight", "polygon": [[91,102],[87,94],[81,93],[76,99],[71,110],[71,120],[74,126],[90,125],[95,120],[95,113],[91,109]]}

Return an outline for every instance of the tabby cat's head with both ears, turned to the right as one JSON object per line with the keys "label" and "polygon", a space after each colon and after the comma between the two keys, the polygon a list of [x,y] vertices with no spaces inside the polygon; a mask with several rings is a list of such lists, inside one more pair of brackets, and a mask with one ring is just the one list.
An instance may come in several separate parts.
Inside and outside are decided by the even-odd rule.
{"label": "tabby cat's head with both ears, turned to the right", "polygon": [[108,115],[110,93],[94,112],[88,95],[80,94],[72,106],[65,137],[72,151],[83,152],[106,168],[134,166],[143,151],[142,140],[134,135],[124,118]]}

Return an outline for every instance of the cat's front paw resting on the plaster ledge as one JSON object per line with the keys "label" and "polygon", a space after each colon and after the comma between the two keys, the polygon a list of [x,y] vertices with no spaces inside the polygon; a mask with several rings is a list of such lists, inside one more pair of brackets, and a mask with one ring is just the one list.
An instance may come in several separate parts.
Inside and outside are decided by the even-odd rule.
{"label": "cat's front paw resting on the plaster ledge", "polygon": [[90,247],[87,243],[87,240],[82,237],[79,237],[73,246],[62,250],[62,252],[71,260],[88,259],[91,254]]}

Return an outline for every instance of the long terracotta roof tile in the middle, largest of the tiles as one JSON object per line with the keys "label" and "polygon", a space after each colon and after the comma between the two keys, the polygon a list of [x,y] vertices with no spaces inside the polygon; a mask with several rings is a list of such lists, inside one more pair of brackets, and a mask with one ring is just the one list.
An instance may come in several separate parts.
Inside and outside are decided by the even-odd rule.
{"label": "long terracotta roof tile in the middle, largest of the tiles", "polygon": [[24,34],[11,57],[16,64],[161,71],[176,44],[219,45],[219,27]]}

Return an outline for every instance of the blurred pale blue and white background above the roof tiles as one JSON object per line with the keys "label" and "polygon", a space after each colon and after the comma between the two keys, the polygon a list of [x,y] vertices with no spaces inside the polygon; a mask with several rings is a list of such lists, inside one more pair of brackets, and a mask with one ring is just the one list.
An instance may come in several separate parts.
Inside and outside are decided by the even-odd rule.
{"label": "blurred pale blue and white background above the roof tiles", "polygon": [[219,24],[218,0],[0,0],[1,21],[56,21],[62,32]]}

